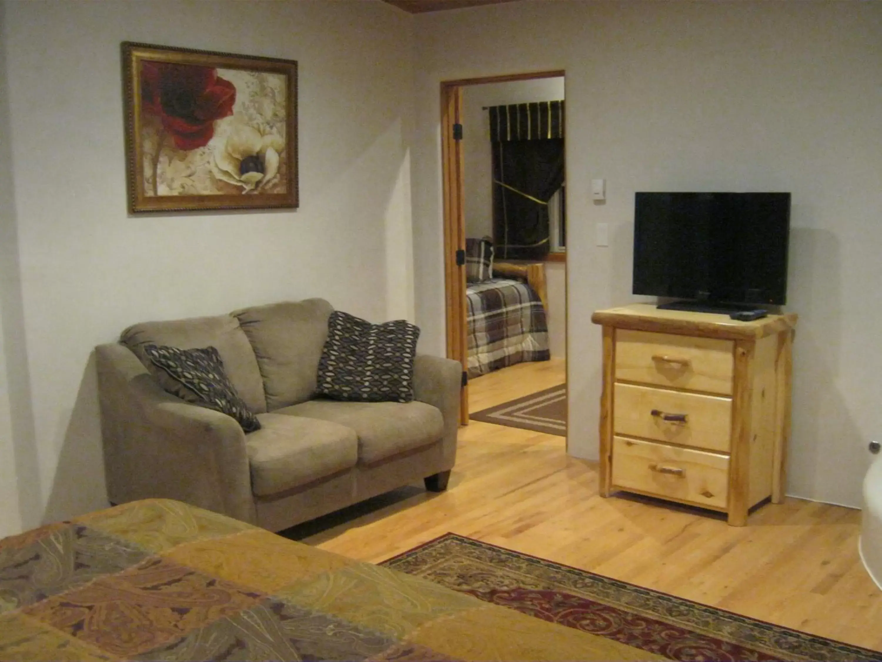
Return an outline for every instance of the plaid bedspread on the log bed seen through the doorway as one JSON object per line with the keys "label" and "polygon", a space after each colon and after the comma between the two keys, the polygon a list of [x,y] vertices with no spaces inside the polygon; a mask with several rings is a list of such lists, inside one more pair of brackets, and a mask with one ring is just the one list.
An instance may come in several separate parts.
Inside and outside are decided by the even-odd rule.
{"label": "plaid bedspread on the log bed seen through the doorway", "polygon": [[527,283],[494,278],[467,290],[468,376],[524,361],[547,361],[548,322]]}

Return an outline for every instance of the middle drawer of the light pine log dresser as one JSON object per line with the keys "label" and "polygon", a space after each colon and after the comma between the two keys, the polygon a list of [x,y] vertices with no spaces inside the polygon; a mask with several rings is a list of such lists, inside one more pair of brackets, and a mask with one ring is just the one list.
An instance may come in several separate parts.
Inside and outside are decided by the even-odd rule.
{"label": "middle drawer of the light pine log dresser", "polygon": [[613,433],[721,453],[731,449],[728,397],[633,384],[616,384],[614,394]]}

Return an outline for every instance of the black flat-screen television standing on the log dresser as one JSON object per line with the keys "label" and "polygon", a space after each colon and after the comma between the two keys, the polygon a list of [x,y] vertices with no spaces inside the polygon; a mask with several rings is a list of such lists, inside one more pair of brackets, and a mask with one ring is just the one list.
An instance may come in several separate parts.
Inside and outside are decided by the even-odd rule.
{"label": "black flat-screen television standing on the log dresser", "polygon": [[784,304],[789,229],[789,193],[638,192],[633,293],[693,310]]}

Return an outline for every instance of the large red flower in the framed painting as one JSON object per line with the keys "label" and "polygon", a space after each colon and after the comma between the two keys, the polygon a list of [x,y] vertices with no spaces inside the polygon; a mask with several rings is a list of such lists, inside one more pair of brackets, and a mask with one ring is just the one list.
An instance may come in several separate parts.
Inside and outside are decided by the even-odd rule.
{"label": "large red flower in the framed painting", "polygon": [[141,63],[141,100],[161,119],[178,149],[204,147],[214,120],[233,114],[235,87],[213,67],[165,62]]}

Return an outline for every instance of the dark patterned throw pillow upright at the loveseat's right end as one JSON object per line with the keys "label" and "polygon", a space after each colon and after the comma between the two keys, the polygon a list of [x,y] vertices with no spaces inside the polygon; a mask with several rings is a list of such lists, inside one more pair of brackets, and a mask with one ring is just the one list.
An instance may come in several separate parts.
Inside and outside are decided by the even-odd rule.
{"label": "dark patterned throw pillow upright at the loveseat's right end", "polygon": [[410,402],[420,328],[405,320],[371,324],[334,311],[318,362],[318,393],[335,400]]}

